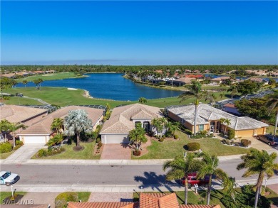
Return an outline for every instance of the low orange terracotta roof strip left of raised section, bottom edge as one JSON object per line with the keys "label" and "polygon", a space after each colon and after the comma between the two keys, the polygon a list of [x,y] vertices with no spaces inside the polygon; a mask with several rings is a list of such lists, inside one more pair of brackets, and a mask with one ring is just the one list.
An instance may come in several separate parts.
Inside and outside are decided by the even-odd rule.
{"label": "low orange terracotta roof strip left of raised section, bottom edge", "polygon": [[68,208],[139,208],[137,202],[69,202]]}

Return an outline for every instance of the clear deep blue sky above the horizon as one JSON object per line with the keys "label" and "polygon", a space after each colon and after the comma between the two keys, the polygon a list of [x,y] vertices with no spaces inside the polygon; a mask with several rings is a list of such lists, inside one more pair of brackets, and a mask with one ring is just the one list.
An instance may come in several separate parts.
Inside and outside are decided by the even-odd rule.
{"label": "clear deep blue sky above the horizon", "polygon": [[1,1],[13,64],[278,64],[278,2]]}

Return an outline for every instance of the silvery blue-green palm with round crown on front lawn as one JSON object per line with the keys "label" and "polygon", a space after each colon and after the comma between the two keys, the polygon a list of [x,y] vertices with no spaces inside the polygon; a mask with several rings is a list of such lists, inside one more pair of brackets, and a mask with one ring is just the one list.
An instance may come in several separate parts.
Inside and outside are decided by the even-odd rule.
{"label": "silvery blue-green palm with round crown on front lawn", "polygon": [[92,121],[88,119],[88,114],[83,109],[78,109],[75,111],[69,111],[68,116],[65,117],[63,126],[65,131],[63,132],[66,136],[74,136],[76,134],[76,147],[75,150],[81,150],[80,146],[80,133],[84,131],[85,133],[91,133]]}

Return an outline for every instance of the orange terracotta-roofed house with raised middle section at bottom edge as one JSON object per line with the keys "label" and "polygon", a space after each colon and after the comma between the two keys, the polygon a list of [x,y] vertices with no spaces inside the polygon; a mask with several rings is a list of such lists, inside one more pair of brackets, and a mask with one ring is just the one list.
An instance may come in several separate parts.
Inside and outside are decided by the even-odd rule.
{"label": "orange terracotta-roofed house with raised middle section at bottom edge", "polygon": [[68,202],[68,208],[220,208],[220,205],[179,204],[175,193],[140,193],[139,202]]}

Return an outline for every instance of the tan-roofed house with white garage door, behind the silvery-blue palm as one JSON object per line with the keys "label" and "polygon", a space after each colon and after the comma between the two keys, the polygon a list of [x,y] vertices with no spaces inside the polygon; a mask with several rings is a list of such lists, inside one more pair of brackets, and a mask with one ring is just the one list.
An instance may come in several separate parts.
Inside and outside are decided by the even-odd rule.
{"label": "tan-roofed house with white garage door, behind the silvery-blue palm", "polygon": [[48,116],[36,122],[36,124],[24,129],[18,133],[18,136],[24,143],[47,143],[56,133],[51,130],[53,120],[56,118],[63,119],[68,115],[68,111],[77,109],[83,109],[87,112],[88,118],[92,120],[93,130],[96,130],[96,126],[102,124],[104,114],[103,109],[94,109],[86,106],[66,106],[48,114]]}

